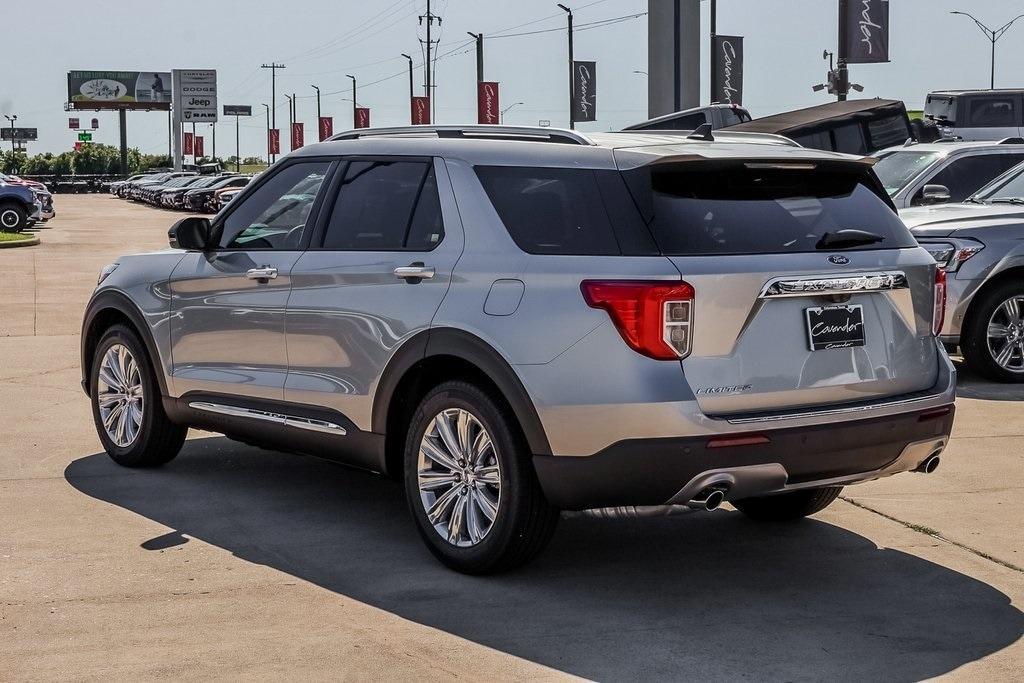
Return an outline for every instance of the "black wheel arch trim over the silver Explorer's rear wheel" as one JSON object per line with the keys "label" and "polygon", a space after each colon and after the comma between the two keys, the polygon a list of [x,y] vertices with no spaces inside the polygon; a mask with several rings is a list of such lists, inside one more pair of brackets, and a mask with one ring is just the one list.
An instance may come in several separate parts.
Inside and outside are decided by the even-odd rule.
{"label": "black wheel arch trim over the silver Explorer's rear wheel", "polygon": [[452,328],[422,332],[395,353],[374,395],[372,430],[385,435],[384,470],[400,473],[404,424],[420,398],[440,381],[466,379],[493,389],[508,403],[532,455],[551,445],[526,388],[512,367],[487,342]]}

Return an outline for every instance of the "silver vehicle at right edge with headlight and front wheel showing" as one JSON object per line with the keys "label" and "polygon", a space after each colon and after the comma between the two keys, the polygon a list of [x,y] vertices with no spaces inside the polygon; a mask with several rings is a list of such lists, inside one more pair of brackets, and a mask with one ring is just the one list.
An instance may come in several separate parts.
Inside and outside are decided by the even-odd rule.
{"label": "silver vehicle at right edge with headlight and front wheel showing", "polygon": [[946,271],[941,341],[989,379],[1024,382],[1024,164],[964,204],[900,216]]}

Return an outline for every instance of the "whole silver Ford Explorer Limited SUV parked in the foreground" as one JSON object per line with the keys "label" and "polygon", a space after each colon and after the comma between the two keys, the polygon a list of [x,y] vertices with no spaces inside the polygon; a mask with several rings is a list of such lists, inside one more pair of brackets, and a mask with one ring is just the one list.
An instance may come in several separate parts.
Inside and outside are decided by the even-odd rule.
{"label": "whole silver Ford Explorer Limited SUV parked in the foreground", "polygon": [[867,162],[784,138],[364,130],[170,242],[85,314],[111,457],[197,427],[386,473],[461,571],[562,509],[796,519],[952,425],[944,273]]}

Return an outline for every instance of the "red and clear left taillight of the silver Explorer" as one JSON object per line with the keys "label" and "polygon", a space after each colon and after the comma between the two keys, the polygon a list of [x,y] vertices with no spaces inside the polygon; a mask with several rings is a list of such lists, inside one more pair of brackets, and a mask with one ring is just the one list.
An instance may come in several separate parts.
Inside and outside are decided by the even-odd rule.
{"label": "red and clear left taillight of the silver Explorer", "polygon": [[633,350],[657,360],[689,355],[693,288],[686,283],[587,280],[580,289],[588,305],[608,311]]}

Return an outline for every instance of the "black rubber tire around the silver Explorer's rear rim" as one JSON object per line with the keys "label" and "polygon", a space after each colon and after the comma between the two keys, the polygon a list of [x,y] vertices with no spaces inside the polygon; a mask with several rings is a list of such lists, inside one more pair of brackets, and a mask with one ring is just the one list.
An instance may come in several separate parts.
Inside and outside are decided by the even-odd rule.
{"label": "black rubber tire around the silver Explorer's rear rim", "polygon": [[[450,409],[466,411],[482,425],[501,471],[494,521],[482,540],[468,547],[450,543],[429,521],[418,483],[421,440],[434,417]],[[427,548],[443,564],[464,573],[492,573],[525,564],[547,546],[558,522],[559,512],[541,490],[529,449],[511,409],[466,382],[445,382],[420,401],[407,432],[404,480],[409,508]]]}

